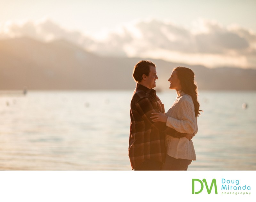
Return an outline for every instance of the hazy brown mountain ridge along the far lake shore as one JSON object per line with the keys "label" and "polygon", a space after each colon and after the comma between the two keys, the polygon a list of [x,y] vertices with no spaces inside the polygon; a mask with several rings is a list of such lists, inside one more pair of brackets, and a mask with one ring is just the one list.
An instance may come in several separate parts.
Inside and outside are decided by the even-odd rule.
{"label": "hazy brown mountain ridge along the far lake shore", "polygon": [[133,89],[133,66],[141,59],[156,64],[158,89],[168,89],[174,67],[186,66],[195,72],[199,89],[256,90],[256,69],[100,57],[65,40],[43,43],[28,37],[0,41],[0,89]]}

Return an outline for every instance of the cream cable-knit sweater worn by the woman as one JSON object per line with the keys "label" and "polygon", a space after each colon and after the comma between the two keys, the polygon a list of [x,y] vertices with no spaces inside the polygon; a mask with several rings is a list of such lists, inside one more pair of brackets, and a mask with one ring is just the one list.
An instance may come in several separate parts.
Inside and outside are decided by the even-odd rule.
{"label": "cream cable-knit sweater worn by the woman", "polygon": [[[197,133],[197,117],[195,116],[195,107],[192,98],[177,91],[178,97],[171,108],[165,114],[168,116],[166,125],[174,128],[180,133]],[[166,136],[166,152],[175,159],[196,160],[196,153],[192,140],[186,137],[175,138]]]}

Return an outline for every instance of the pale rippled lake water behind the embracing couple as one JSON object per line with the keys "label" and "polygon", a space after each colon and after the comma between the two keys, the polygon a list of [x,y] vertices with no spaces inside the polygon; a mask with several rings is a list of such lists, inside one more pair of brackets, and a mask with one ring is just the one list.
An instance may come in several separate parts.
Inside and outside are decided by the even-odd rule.
{"label": "pale rippled lake water behind the embracing couple", "polygon": [[[131,170],[132,92],[2,92],[0,170]],[[157,95],[165,111],[176,98]],[[199,102],[188,170],[256,170],[256,92],[200,91]]]}

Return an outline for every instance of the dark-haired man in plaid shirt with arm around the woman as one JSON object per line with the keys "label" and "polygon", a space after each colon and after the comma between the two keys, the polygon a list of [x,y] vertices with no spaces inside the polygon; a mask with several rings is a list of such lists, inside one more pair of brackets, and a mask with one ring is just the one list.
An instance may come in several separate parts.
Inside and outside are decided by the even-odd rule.
{"label": "dark-haired man in plaid shirt with arm around the woman", "polygon": [[163,122],[153,122],[151,113],[164,113],[164,105],[156,96],[156,65],[141,60],[133,69],[136,88],[131,100],[129,158],[132,170],[162,170],[165,160],[165,134],[184,137]]}

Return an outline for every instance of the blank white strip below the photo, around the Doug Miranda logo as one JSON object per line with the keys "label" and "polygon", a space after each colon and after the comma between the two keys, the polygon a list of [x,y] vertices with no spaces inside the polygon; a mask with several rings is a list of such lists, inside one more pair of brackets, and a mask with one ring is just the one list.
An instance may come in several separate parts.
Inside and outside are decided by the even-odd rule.
{"label": "blank white strip below the photo, around the Doug Miranda logo", "polygon": [[[256,201],[255,171],[1,171],[0,201]],[[192,179],[216,179],[210,194],[192,194]],[[222,194],[221,181],[239,180],[251,194]],[[198,184],[197,184],[198,185]],[[198,187],[196,187],[198,189]],[[198,191],[198,190],[197,190]],[[228,190],[227,190],[228,192]]]}

